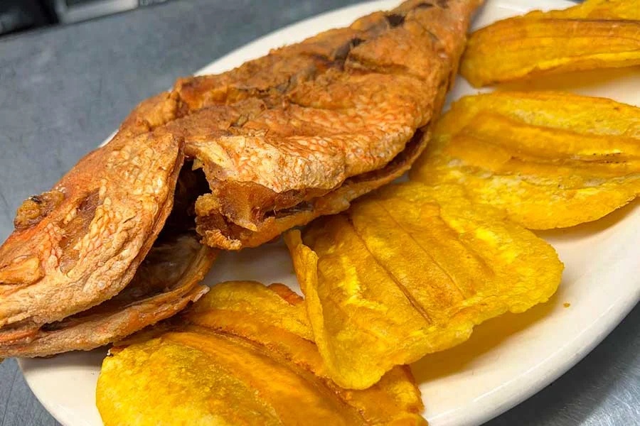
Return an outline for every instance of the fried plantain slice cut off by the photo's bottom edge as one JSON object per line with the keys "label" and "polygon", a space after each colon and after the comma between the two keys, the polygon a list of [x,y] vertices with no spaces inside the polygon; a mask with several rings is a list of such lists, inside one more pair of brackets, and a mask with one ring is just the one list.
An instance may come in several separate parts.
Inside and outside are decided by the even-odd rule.
{"label": "fried plantain slice cut off by the photo's bottom edge", "polygon": [[336,386],[284,285],[220,283],[184,322],[105,359],[105,425],[426,425],[405,366],[365,391]]}

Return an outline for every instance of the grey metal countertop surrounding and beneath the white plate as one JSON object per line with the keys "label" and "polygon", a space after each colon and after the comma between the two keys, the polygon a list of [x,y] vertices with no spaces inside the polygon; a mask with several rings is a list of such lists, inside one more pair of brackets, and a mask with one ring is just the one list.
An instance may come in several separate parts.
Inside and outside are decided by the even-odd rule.
{"label": "grey metal countertop surrounding and beneath the white plate", "polygon": [[[0,241],[22,200],[48,190],[137,102],[260,35],[356,2],[173,1],[0,40]],[[640,306],[580,364],[488,425],[640,425],[638,354]],[[0,426],[56,424],[16,362],[0,364]]]}

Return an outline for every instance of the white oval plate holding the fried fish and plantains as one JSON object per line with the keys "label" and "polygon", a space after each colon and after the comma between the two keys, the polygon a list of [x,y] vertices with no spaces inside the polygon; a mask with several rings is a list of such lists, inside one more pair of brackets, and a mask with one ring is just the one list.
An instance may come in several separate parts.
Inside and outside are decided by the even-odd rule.
{"label": "white oval plate holding the fried fish and plantains", "polygon": [[[255,40],[199,73],[229,70],[265,55],[270,48],[346,26],[398,2],[373,1],[307,19]],[[484,6],[475,26],[535,8],[571,5],[558,0],[493,0]],[[637,68],[543,80],[521,87],[567,89],[640,106]],[[459,79],[449,100],[474,92]],[[640,299],[639,206],[632,203],[592,224],[540,232],[566,266],[558,295],[524,314],[486,322],[469,342],[412,365],[425,401],[425,417],[433,426],[477,425],[503,413],[558,378],[611,332]],[[206,281],[239,279],[281,282],[298,290],[281,243],[224,253]],[[570,306],[565,307],[565,302]],[[104,356],[105,349],[98,349],[51,359],[22,359],[20,366],[33,393],[59,422],[97,426],[102,422],[95,408],[95,383]]]}

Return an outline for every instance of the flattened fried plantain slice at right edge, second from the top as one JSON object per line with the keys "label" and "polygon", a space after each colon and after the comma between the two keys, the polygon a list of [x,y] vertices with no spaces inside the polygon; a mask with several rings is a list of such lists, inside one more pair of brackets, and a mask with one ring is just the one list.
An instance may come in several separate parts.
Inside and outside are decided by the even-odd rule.
{"label": "flattened fried plantain slice at right edge, second from the top", "polygon": [[464,97],[410,178],[457,182],[529,229],[590,222],[640,194],[640,109],[554,92]]}

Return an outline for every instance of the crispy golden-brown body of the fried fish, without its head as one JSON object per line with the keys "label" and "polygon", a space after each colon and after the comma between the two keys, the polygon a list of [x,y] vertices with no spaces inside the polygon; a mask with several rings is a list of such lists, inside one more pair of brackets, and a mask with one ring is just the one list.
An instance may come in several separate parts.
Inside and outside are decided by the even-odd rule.
{"label": "crispy golden-brown body of the fried fish, without its head", "polygon": [[[405,1],[222,75],[178,80],[127,122],[185,138],[210,186],[196,204],[206,244],[260,245],[393,180],[390,163],[408,167],[415,155],[403,153],[439,114],[479,4]],[[427,139],[417,141],[419,152]]]}

